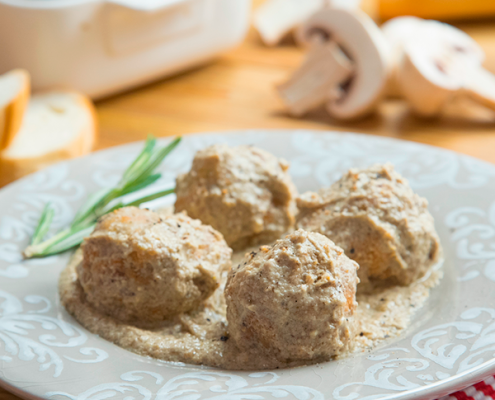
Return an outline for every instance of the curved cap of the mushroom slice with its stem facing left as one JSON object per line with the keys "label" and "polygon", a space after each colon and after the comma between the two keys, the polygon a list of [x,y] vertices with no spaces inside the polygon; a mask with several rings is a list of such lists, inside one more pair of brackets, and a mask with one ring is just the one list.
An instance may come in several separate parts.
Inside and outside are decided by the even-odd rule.
{"label": "curved cap of the mushroom slice with its stem facing left", "polygon": [[303,44],[315,35],[335,41],[355,67],[355,75],[341,86],[341,96],[327,104],[328,112],[352,119],[373,111],[384,94],[390,65],[389,47],[378,26],[360,10],[325,9],[296,32]]}

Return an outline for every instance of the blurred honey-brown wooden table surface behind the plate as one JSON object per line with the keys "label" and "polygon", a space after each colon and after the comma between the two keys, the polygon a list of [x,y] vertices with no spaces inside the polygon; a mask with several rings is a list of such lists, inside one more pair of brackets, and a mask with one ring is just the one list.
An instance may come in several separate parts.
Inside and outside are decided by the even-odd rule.
{"label": "blurred honey-brown wooden table surface behind the plate", "polygon": [[[458,26],[486,51],[495,73],[495,21]],[[97,149],[156,136],[236,129],[318,129],[362,132],[428,143],[495,163],[495,113],[475,107],[450,110],[437,120],[412,115],[401,101],[356,122],[333,121],[323,111],[295,119],[278,99],[274,85],[301,62],[292,45],[266,48],[249,32],[238,48],[206,66],[97,103]],[[0,389],[0,400],[18,397]]]}

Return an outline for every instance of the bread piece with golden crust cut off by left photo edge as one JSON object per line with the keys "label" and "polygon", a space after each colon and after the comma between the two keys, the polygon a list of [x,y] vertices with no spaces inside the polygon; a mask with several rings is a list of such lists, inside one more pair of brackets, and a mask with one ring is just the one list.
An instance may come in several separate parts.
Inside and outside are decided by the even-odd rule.
{"label": "bread piece with golden crust cut off by left photo edge", "polygon": [[27,71],[14,69],[0,76],[0,150],[12,143],[21,127],[30,91]]}

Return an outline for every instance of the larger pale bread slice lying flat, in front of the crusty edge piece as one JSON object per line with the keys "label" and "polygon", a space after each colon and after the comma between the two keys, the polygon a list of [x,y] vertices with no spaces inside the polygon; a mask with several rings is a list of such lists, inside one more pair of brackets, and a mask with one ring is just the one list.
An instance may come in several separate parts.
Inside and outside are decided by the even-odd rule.
{"label": "larger pale bread slice lying flat, in front of the crusty edge piece", "polygon": [[89,153],[95,137],[96,114],[87,97],[71,91],[33,96],[20,130],[0,153],[0,186]]}

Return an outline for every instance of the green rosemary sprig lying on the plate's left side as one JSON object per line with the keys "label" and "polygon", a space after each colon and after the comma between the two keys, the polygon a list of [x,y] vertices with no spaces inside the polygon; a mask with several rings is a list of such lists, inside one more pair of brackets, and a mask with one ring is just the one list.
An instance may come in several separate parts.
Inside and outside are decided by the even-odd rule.
{"label": "green rosemary sprig lying on the plate's left side", "polygon": [[123,199],[125,195],[144,189],[160,179],[161,174],[155,172],[156,169],[180,141],[181,137],[177,137],[169,145],[156,148],[156,139],[151,136],[148,137],[143,150],[125,170],[115,187],[102,189],[92,194],[79,209],[68,228],[43,241],[50,229],[55,213],[50,204],[46,204],[31,244],[24,250],[24,257],[46,257],[69,250],[81,244],[83,239],[91,234],[101,216],[121,207],[139,206],[142,203],[173,193],[174,189],[168,189],[147,194],[134,200]]}

